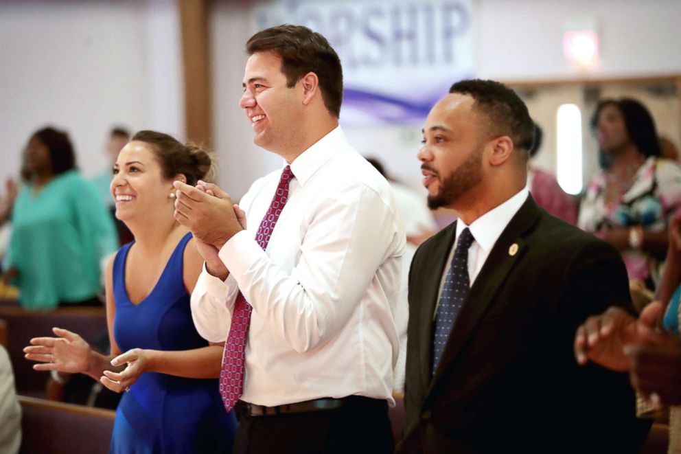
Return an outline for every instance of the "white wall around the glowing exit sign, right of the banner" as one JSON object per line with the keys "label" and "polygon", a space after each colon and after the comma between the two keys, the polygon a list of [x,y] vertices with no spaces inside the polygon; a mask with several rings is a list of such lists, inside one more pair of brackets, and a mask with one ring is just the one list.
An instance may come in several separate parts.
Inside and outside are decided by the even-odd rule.
{"label": "white wall around the glowing exit sign, right of the banner", "polygon": [[[478,0],[478,76],[567,79],[681,73],[681,1]],[[600,60],[580,73],[563,58],[568,21],[595,19]]]}

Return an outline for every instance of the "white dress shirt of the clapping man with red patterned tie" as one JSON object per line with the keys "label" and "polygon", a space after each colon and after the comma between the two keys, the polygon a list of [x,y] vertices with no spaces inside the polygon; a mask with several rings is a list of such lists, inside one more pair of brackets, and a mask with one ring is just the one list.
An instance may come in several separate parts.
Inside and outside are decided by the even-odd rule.
{"label": "white dress shirt of the clapping man with red patterned tie", "polygon": [[253,306],[242,400],[274,406],[359,395],[393,404],[406,238],[390,187],[340,127],[291,170],[266,251],[255,232],[281,170],[242,198],[248,227],[219,252],[229,277],[222,282],[204,269],[192,294],[196,329],[224,341],[240,289]]}

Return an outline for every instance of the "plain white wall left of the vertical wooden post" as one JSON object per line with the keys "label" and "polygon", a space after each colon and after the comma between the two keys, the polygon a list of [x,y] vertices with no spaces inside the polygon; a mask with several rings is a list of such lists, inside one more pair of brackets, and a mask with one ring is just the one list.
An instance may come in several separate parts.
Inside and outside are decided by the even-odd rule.
{"label": "plain white wall left of the vertical wooden post", "polygon": [[107,165],[113,124],[184,133],[179,36],[174,0],[0,3],[0,180],[47,124],[86,174]]}

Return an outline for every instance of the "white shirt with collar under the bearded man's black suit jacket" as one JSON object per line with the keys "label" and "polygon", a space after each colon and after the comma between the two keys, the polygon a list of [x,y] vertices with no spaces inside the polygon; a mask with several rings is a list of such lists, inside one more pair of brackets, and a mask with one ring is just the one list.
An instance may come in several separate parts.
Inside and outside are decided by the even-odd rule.
{"label": "white shirt with collar under the bearded man's black suit jacket", "polygon": [[492,251],[496,240],[499,239],[501,233],[509,222],[511,222],[513,216],[516,216],[516,213],[520,207],[522,207],[522,204],[527,200],[527,196],[529,196],[529,191],[527,188],[522,188],[518,194],[509,198],[498,207],[490,209],[487,213],[483,214],[483,216],[474,220],[471,225],[465,225],[461,218],[457,220],[457,238],[454,241],[454,245],[452,245],[452,250],[447,259],[447,265],[442,272],[440,292],[438,295],[442,293],[442,286],[445,283],[445,278],[447,277],[447,272],[452,263],[452,258],[454,258],[454,249],[457,247],[457,242],[459,242],[459,236],[463,229],[468,227],[474,238],[473,244],[470,246],[470,249],[468,249],[468,278],[470,280],[470,286],[472,286],[473,282],[475,282],[475,278],[478,277],[478,273],[480,273],[480,270],[483,268],[485,260],[487,260],[487,257],[489,256],[489,252]]}

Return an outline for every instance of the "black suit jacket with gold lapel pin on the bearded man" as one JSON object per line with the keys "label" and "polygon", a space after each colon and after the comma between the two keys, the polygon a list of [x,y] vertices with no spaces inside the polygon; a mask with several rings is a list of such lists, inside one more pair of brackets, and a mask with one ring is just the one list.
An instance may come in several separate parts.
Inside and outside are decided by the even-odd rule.
{"label": "black suit jacket with gold lapel pin on the bearded man", "polygon": [[573,354],[589,315],[613,304],[633,311],[619,253],[529,196],[489,253],[431,376],[433,315],[455,232],[456,223],[424,242],[411,264],[397,451],[638,452],[649,423],[635,418],[627,375],[580,367]]}

